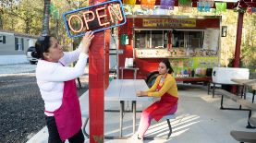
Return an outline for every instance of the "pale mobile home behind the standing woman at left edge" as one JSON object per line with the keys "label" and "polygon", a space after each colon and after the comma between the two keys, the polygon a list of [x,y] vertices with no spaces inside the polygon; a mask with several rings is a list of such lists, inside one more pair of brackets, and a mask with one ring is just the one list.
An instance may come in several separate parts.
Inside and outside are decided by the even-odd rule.
{"label": "pale mobile home behind the standing woman at left edge", "polygon": [[37,37],[0,30],[0,65],[27,63],[26,52]]}

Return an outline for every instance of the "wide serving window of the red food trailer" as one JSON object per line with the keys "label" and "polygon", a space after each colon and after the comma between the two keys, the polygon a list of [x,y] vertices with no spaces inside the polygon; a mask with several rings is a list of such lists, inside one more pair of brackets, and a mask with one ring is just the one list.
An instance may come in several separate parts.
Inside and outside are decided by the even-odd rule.
{"label": "wide serving window of the red food trailer", "polygon": [[135,48],[202,48],[203,30],[135,30]]}

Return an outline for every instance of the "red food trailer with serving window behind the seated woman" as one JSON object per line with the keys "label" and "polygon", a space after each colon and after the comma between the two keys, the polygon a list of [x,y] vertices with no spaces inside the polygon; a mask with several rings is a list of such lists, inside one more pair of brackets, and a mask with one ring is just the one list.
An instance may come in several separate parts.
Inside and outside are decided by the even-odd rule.
{"label": "red food trailer with serving window behind the seated woman", "polygon": [[[118,30],[118,50],[122,51],[118,54],[118,69],[139,69],[136,78],[146,79],[151,86],[159,62],[169,59],[177,81],[212,79],[213,66],[219,66],[220,16],[130,15],[127,21]],[[133,64],[126,64],[128,58]],[[133,78],[132,70],[123,72],[123,78]]]}

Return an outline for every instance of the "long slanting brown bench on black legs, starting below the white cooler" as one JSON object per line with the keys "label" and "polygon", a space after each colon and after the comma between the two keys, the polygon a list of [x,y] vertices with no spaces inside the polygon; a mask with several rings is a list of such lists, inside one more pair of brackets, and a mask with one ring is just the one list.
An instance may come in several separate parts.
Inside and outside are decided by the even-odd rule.
{"label": "long slanting brown bench on black legs, starting below the white cooler", "polygon": [[[247,128],[255,128],[254,126],[250,125],[249,119],[251,116],[251,110],[256,111],[256,105],[254,103],[251,103],[250,101],[246,101],[242,98],[240,98],[238,95],[235,95],[233,93],[230,93],[224,89],[216,89],[216,92],[220,93],[222,95],[221,97],[221,110],[238,110],[238,111],[249,111],[249,115],[248,115],[248,125],[246,126]],[[237,102],[238,104],[240,104],[239,108],[226,108],[223,107],[223,99],[224,96],[226,96],[227,98],[231,99],[232,101]],[[244,109],[242,108],[242,106],[248,108],[248,109]]]}

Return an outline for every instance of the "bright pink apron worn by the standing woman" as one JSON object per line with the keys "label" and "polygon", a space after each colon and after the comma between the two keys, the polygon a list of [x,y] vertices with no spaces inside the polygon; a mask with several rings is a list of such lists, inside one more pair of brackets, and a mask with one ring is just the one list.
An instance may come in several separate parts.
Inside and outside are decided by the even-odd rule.
{"label": "bright pink apron worn by the standing woman", "polygon": [[[45,111],[47,112],[47,111]],[[75,79],[64,82],[63,100],[55,112],[55,122],[62,141],[73,137],[81,129],[81,113]]]}

